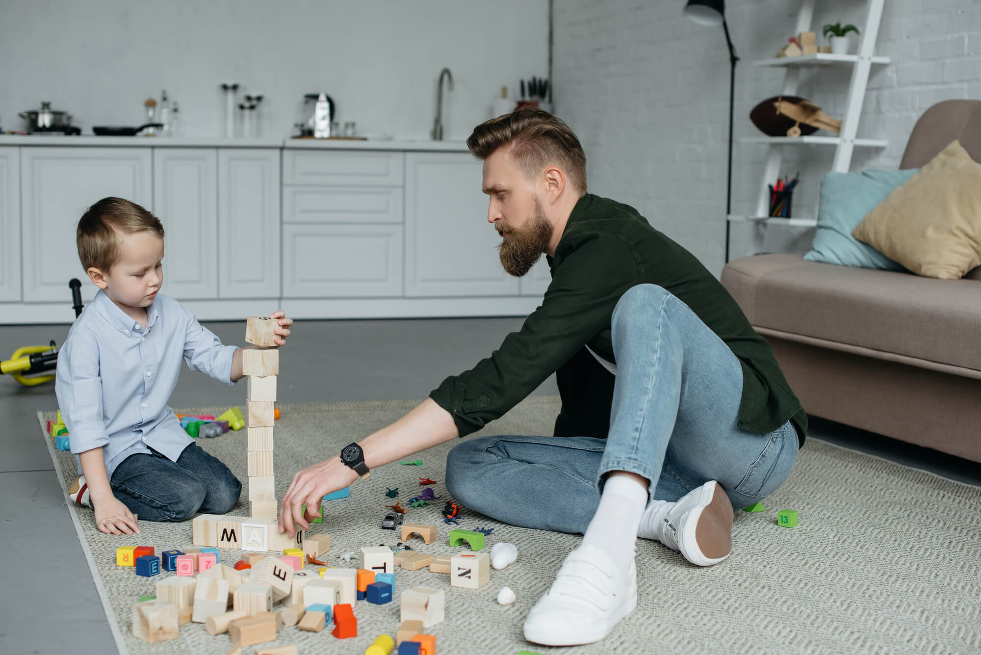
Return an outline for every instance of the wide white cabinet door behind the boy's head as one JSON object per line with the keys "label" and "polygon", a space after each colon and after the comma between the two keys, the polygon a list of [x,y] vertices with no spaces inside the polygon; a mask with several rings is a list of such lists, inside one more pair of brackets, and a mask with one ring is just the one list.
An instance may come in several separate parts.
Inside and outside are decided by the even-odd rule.
{"label": "wide white cabinet door behind the boy's head", "polygon": [[78,219],[106,196],[152,212],[151,167],[148,147],[21,149],[24,302],[64,302],[71,316],[72,277],[82,281],[84,302],[95,297],[97,289],[78,261]]}

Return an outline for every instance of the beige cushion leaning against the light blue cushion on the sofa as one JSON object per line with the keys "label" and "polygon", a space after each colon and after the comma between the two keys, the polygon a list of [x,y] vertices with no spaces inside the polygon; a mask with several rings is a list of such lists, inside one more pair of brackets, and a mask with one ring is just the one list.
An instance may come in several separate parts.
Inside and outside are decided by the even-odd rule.
{"label": "beige cushion leaning against the light blue cushion on the sofa", "polygon": [[963,277],[981,264],[981,164],[952,141],[852,236],[920,276]]}

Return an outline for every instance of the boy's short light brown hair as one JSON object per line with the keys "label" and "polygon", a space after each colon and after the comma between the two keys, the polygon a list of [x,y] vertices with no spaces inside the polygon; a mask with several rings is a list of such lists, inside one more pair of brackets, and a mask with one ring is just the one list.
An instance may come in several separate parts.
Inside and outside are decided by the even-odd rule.
{"label": "boy's short light brown hair", "polygon": [[96,268],[109,273],[119,258],[117,230],[126,234],[156,232],[160,238],[164,237],[160,220],[136,203],[123,198],[103,198],[78,220],[76,244],[83,269]]}

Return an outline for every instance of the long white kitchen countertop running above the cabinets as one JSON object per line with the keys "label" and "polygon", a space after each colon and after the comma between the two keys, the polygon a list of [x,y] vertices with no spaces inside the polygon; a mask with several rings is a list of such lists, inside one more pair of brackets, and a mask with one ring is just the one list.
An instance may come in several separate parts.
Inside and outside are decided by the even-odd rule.
{"label": "long white kitchen countertop running above the cabinets", "polygon": [[224,138],[209,136],[57,136],[48,134],[0,134],[0,146],[78,146],[134,148],[289,148],[323,150],[408,150],[425,152],[467,152],[464,141],[395,139],[347,140],[313,138]]}

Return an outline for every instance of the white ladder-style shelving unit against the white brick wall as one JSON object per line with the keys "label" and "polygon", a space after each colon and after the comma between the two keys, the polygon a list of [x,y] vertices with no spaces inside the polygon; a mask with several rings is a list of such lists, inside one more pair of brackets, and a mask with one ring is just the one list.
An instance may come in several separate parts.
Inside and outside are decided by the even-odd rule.
{"label": "white ladder-style shelving unit against the white brick wall", "polygon": [[[811,31],[811,21],[814,16],[815,0],[803,0],[798,15],[797,28],[794,33]],[[845,118],[842,119],[842,129],[839,136],[749,136],[739,139],[740,143],[764,143],[768,146],[766,166],[763,169],[759,185],[759,195],[756,200],[756,210],[751,215],[730,215],[731,222],[749,221],[758,225],[782,225],[792,227],[814,227],[817,220],[813,218],[780,219],[769,217],[770,192],[768,184],[776,180],[780,174],[783,162],[784,148],[796,145],[825,145],[835,147],[835,157],[831,165],[832,171],[847,172],[852,165],[852,151],[856,147],[884,148],[884,139],[857,138],[858,119],[861,116],[862,104],[865,100],[865,90],[868,86],[868,76],[872,65],[887,65],[889,57],[876,57],[875,42],[879,35],[879,23],[882,19],[884,0],[867,0],[868,13],[855,55],[832,55],[817,53],[800,55],[798,57],[777,57],[761,59],[753,62],[757,67],[783,68],[784,85],[781,95],[797,95],[800,84],[800,70],[805,68],[825,66],[852,66],[852,79],[849,83],[848,99],[846,101]],[[726,253],[728,259],[728,253]]]}

